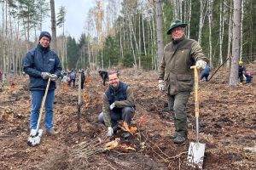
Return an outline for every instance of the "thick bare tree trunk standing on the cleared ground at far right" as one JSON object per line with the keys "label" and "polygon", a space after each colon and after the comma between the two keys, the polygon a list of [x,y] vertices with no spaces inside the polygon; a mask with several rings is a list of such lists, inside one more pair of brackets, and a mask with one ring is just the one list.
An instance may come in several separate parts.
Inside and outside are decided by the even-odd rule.
{"label": "thick bare tree trunk standing on the cleared ground at far right", "polygon": [[234,1],[233,15],[233,40],[232,40],[232,59],[230,70],[230,85],[236,86],[238,83],[238,59],[240,54],[240,26],[241,26],[241,0]]}

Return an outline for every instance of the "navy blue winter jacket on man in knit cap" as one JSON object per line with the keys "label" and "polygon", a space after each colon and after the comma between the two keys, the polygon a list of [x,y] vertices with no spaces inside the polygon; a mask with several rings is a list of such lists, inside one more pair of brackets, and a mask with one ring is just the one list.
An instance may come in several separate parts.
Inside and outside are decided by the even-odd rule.
{"label": "navy blue winter jacket on man in knit cap", "polygon": [[[61,63],[57,54],[49,48],[43,48],[38,43],[37,48],[32,48],[23,60],[23,71],[30,77],[30,90],[45,90],[47,81],[41,77],[42,72],[61,76]],[[55,82],[50,82],[49,90],[55,89]]]}

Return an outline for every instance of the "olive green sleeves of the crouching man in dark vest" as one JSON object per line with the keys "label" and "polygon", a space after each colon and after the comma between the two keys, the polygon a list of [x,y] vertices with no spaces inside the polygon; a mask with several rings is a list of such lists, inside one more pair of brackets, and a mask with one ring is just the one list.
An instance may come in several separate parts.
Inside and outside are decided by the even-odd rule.
{"label": "olive green sleeves of the crouching man in dark vest", "polygon": [[[110,116],[108,96],[106,94],[103,94],[102,100],[103,100],[102,111],[104,114],[103,116],[104,122],[107,127],[111,127],[111,116]],[[117,108],[134,107],[134,96],[130,86],[128,86],[128,88],[126,89],[126,100],[114,101],[114,106]]]}

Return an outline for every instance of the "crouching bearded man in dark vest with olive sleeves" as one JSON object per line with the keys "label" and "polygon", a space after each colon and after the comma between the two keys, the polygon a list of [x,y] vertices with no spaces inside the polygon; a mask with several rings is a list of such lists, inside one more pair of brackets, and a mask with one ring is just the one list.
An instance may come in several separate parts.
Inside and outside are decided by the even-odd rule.
{"label": "crouching bearded man in dark vest with olive sleeves", "polygon": [[102,113],[98,116],[98,122],[105,124],[108,127],[107,135],[112,136],[117,132],[119,120],[131,125],[135,105],[131,87],[125,82],[120,82],[116,71],[108,72],[108,85],[102,96]]}

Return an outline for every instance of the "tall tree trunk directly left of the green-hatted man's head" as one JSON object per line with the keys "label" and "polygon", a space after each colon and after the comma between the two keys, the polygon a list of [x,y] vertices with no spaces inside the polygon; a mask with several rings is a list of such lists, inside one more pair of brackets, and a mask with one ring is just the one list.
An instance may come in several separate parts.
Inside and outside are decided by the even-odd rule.
{"label": "tall tree trunk directly left of the green-hatted man's head", "polygon": [[155,1],[155,20],[156,20],[156,37],[157,37],[157,56],[158,65],[164,57],[164,37],[163,37],[163,12],[162,0]]}

